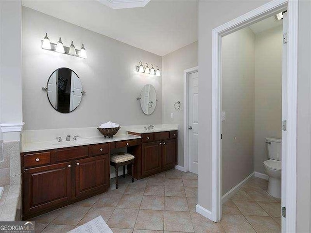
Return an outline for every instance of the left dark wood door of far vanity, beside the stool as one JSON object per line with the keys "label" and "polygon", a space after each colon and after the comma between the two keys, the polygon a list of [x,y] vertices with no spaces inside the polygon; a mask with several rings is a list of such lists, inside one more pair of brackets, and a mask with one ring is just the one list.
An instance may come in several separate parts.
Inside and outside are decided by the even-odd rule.
{"label": "left dark wood door of far vanity, beside the stool", "polygon": [[[142,175],[148,176],[161,171],[161,142],[142,144]],[[135,169],[135,168],[134,168]]]}

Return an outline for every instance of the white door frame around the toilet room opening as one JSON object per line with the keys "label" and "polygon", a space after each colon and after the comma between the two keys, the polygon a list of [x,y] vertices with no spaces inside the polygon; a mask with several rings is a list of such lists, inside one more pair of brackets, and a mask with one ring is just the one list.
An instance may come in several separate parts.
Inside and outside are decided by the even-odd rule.
{"label": "white door frame around the toilet room opening", "polygon": [[[212,185],[211,220],[221,219],[221,45],[222,37],[288,9],[287,60],[287,145],[286,145],[286,224],[285,231],[296,232],[296,126],[298,1],[272,0],[212,30]],[[291,156],[288,156],[288,155]],[[282,229],[282,232],[283,229]]]}

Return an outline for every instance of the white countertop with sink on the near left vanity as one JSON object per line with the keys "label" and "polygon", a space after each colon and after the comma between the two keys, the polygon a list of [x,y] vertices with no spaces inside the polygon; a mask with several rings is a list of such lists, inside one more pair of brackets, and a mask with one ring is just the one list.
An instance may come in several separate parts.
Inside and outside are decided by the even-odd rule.
{"label": "white countertop with sink on the near left vanity", "polygon": [[46,141],[46,142],[34,142],[34,143],[26,143],[23,145],[20,152],[30,152],[30,151],[39,151],[39,150],[52,150],[57,148],[65,148],[65,147],[76,147],[76,146],[84,146],[90,144],[98,144],[98,143],[106,143],[106,142],[117,142],[124,141],[130,139],[138,139],[140,136],[130,135],[130,134],[117,134],[111,138],[100,136],[100,137],[86,137],[86,138],[78,138],[76,141],[63,141],[57,142],[57,140]]}

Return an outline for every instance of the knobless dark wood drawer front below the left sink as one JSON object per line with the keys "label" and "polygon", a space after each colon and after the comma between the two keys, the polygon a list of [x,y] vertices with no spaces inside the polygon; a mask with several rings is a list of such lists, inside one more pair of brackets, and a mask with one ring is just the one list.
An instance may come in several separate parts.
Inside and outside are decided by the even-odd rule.
{"label": "knobless dark wood drawer front below the left sink", "polygon": [[88,157],[88,146],[79,147],[79,148],[65,148],[62,150],[55,151],[55,160],[56,162],[66,161],[71,159]]}

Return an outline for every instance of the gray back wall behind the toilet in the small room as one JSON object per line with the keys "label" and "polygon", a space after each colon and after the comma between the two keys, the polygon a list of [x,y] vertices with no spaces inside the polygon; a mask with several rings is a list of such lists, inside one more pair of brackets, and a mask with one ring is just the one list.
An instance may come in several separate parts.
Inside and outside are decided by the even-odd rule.
{"label": "gray back wall behind the toilet in the small room", "polygon": [[281,138],[282,38],[278,26],[256,34],[255,47],[255,171],[265,173],[266,137]]}

